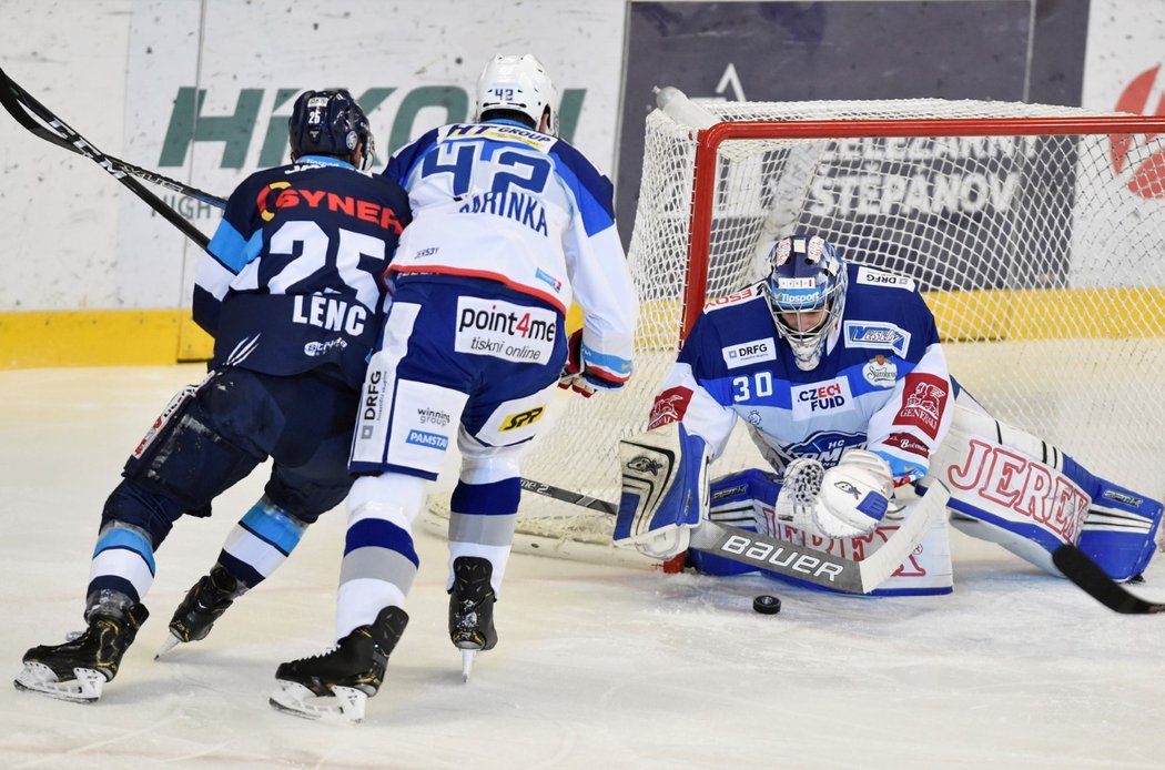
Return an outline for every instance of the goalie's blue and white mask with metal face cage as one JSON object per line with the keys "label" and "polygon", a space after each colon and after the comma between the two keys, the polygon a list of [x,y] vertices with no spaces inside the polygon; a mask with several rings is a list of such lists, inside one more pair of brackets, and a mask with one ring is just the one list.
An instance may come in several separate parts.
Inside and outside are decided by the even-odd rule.
{"label": "goalie's blue and white mask with metal face cage", "polygon": [[799,369],[809,372],[820,362],[841,322],[847,282],[845,260],[819,235],[791,235],[772,247],[769,309]]}

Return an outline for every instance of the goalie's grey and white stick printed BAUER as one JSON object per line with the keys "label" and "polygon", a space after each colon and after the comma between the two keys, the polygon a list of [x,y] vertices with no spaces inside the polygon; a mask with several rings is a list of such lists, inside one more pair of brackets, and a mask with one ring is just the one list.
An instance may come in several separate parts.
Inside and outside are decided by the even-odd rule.
{"label": "goalie's grey and white stick printed BAUER", "polygon": [[[522,479],[522,488],[612,516],[619,510],[617,506],[605,500],[541,481]],[[902,566],[926,535],[934,518],[941,515],[949,496],[947,488],[935,481],[918,503],[906,509],[906,516],[901,525],[887,538],[882,548],[861,561],[708,521],[692,531],[690,548],[833,591],[867,594],[885,582]]]}

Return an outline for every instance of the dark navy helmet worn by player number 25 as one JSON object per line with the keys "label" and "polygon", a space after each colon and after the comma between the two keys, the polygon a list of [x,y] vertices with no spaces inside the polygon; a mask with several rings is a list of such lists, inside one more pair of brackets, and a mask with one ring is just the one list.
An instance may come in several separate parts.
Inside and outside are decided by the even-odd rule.
{"label": "dark navy helmet worn by player number 25", "polygon": [[347,161],[359,146],[356,168],[372,168],[375,147],[368,116],[345,89],[302,93],[288,119],[288,135],[292,160],[329,155]]}

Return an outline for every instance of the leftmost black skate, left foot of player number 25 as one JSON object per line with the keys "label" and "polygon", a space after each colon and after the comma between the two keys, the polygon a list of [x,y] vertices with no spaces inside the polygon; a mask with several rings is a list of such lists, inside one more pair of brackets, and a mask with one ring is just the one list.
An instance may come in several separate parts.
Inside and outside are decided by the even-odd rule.
{"label": "leftmost black skate, left foot of player number 25", "polygon": [[90,610],[87,628],[64,644],[42,644],[24,654],[24,670],[13,684],[17,690],[50,698],[91,702],[113,679],[137,629],[149,617],[142,605],[98,605]]}

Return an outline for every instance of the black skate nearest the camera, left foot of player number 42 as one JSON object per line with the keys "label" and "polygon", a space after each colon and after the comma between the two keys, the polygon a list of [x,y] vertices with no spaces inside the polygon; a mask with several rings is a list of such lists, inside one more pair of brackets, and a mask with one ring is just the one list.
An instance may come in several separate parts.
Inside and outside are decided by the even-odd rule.
{"label": "black skate nearest the camera, left foot of player number 42", "polygon": [[271,706],[306,719],[359,722],[368,698],[380,690],[388,656],[408,622],[403,609],[386,607],[372,626],[356,628],[332,650],[280,664]]}

